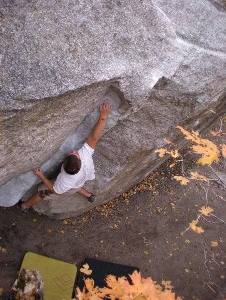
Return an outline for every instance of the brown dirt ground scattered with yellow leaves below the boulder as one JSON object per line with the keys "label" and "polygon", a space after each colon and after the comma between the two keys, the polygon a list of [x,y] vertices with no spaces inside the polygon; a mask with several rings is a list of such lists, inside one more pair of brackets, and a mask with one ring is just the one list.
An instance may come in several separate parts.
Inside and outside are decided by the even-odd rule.
{"label": "brown dirt ground scattered with yellow leaves below the boulder", "polygon": [[[187,158],[186,169],[195,168],[193,157]],[[8,299],[27,251],[73,264],[97,258],[137,266],[143,277],[158,283],[170,280],[182,299],[223,299],[219,292],[226,294],[226,226],[211,216],[206,217],[209,222],[200,219],[203,234],[191,229],[181,234],[197,218],[206,196],[199,184],[182,186],[172,179],[180,168],[169,168],[171,163],[168,160],[118,199],[78,218],[52,221],[33,210],[23,214],[16,206],[0,208],[2,300]],[[226,198],[216,183],[209,206],[226,220],[226,202],[215,193]],[[208,285],[208,271],[215,285]]]}

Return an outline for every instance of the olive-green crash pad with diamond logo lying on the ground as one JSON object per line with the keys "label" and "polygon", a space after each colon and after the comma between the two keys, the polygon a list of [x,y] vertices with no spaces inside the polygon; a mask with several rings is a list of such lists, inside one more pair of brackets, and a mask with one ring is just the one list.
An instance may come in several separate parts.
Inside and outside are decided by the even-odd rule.
{"label": "olive-green crash pad with diamond logo lying on the ground", "polygon": [[37,269],[42,274],[45,300],[71,300],[77,273],[75,265],[27,252],[21,269]]}

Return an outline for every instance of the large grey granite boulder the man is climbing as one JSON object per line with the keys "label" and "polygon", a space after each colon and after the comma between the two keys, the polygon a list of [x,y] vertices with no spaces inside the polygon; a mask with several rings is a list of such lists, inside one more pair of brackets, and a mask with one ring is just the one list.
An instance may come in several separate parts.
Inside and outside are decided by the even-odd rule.
{"label": "large grey granite boulder the man is climbing", "polygon": [[35,191],[81,146],[108,97],[94,153],[96,203],[74,195],[35,210],[60,219],[105,203],[163,160],[175,126],[202,129],[225,107],[226,9],[218,0],[1,1],[0,205]]}

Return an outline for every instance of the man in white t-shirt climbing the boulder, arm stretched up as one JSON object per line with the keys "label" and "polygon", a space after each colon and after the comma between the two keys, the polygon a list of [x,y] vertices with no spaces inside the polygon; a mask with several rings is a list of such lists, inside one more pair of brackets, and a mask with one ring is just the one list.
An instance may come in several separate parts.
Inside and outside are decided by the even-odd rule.
{"label": "man in white t-shirt climbing the boulder, arm stretched up", "polygon": [[19,207],[23,211],[27,211],[31,206],[44,199],[55,200],[61,194],[79,193],[85,196],[89,202],[95,201],[95,196],[88,193],[82,186],[87,180],[95,178],[92,155],[111,110],[109,100],[105,100],[99,108],[100,116],[93,132],[80,149],[73,150],[66,155],[61,171],[54,183],[44,176],[41,168],[33,170],[33,173],[40,178],[43,184],[39,186],[38,191],[29,200],[26,202],[19,201]]}

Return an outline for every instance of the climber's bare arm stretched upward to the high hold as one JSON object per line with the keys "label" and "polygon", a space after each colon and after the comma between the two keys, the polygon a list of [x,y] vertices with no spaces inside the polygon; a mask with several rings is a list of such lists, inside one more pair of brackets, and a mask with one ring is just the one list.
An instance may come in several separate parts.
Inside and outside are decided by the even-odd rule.
{"label": "climber's bare arm stretched upward to the high hold", "polygon": [[96,125],[93,129],[93,132],[86,140],[87,144],[93,149],[95,149],[95,147],[96,147],[97,141],[101,135],[101,132],[104,129],[104,126],[107,121],[107,117],[108,117],[109,113],[111,112],[111,110],[112,110],[112,107],[108,100],[105,100],[104,103],[100,106],[99,120],[96,123]]}

